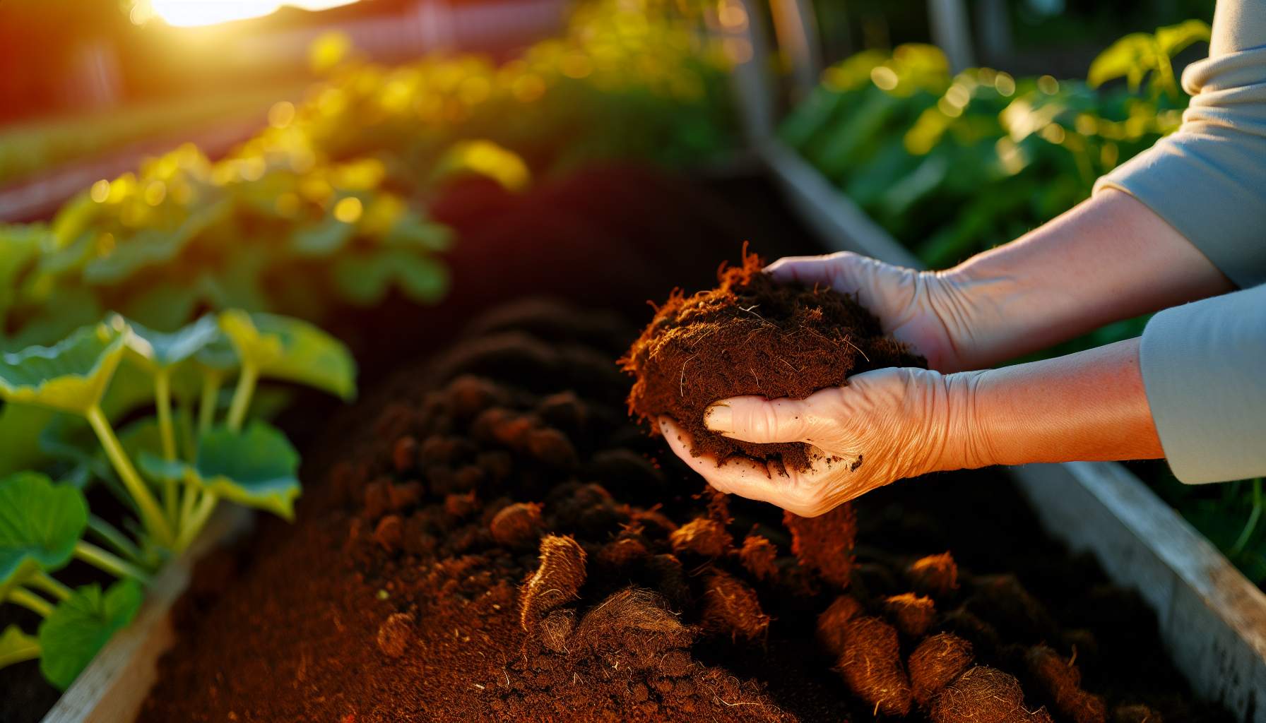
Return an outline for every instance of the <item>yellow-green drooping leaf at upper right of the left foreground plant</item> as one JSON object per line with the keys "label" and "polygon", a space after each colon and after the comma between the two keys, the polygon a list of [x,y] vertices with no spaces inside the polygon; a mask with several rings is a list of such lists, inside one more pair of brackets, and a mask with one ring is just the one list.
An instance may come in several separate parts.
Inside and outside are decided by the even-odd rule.
{"label": "yellow-green drooping leaf at upper right of the left foreground plant", "polygon": [[308,322],[237,309],[220,314],[220,329],[243,363],[261,376],[315,386],[343,399],[356,396],[356,361],[347,347]]}

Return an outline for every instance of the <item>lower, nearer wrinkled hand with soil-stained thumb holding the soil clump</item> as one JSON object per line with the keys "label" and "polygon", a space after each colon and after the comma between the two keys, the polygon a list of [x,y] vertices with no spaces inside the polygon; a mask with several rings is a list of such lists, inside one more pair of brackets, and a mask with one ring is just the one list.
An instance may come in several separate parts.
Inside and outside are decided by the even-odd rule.
{"label": "lower, nearer wrinkled hand with soil-stained thumb holding the soil clump", "polygon": [[990,463],[989,443],[974,419],[980,375],[881,368],[801,400],[736,396],[704,414],[709,429],[734,439],[812,444],[809,470],[747,457],[695,457],[691,437],[676,422],[662,417],[660,429],[713,487],[817,517],[900,479]]}

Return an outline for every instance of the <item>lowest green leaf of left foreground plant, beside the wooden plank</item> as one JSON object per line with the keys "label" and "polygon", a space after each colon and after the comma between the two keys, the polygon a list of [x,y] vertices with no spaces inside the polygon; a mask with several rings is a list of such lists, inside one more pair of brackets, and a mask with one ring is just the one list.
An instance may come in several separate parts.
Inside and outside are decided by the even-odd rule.
{"label": "lowest green leaf of left foreground plant, beside the wooden plank", "polygon": [[135,580],[119,580],[105,594],[97,584],[75,590],[39,624],[39,670],[60,690],[70,688],[115,632],[141,609]]}

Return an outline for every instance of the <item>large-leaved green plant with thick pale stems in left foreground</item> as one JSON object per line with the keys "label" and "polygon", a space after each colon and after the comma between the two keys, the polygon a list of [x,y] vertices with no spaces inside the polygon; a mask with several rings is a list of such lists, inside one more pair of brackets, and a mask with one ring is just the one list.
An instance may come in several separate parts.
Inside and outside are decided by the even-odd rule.
{"label": "large-leaved green plant with thick pale stems in left foreground", "polygon": [[[152,394],[141,399],[151,400],[154,413],[116,433],[101,400],[125,360],[148,379]],[[229,375],[237,384],[225,410],[218,391]],[[5,629],[0,663],[39,657],[44,677],[65,689],[130,622],[151,572],[194,542],[220,500],[291,518],[300,494],[299,455],[267,422],[248,422],[257,385],[276,379],[351,399],[354,376],[347,349],[316,327],[242,310],[172,333],[113,314],[52,347],[0,356],[0,398],[84,419],[109,470],[91,465],[96,453],[73,439],[61,443],[90,470],[103,470],[96,476],[119,482],[109,489],[139,520],[124,525],[134,531],[127,534],[91,515],[78,486],[42,472],[0,480],[0,601],[42,618],[37,636]],[[89,542],[89,534],[105,547]],[[71,590],[52,575],[72,560],[119,581],[104,591],[99,585]]]}

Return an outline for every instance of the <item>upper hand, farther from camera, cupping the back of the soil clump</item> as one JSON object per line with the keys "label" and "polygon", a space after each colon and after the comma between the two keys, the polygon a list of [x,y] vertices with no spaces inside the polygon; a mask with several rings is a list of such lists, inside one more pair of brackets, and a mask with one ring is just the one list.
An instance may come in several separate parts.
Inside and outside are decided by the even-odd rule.
{"label": "upper hand, farther from camera, cupping the back of the soil clump", "polygon": [[993,311],[977,284],[952,271],[915,271],[842,251],[789,256],[765,268],[780,282],[800,281],[857,294],[884,329],[938,371],[974,368],[987,347],[980,319]]}

